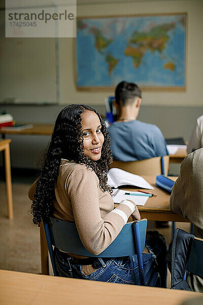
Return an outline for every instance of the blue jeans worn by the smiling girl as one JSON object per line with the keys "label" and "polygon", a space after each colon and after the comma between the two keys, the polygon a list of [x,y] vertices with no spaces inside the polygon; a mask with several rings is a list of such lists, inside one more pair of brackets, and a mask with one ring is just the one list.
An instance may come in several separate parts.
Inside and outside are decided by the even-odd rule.
{"label": "blue jeans worn by the smiling girl", "polygon": [[[152,239],[151,236],[150,239]],[[154,245],[157,250],[157,243],[151,242],[151,244],[152,246]],[[160,271],[163,273],[166,270],[163,266],[161,266],[161,270],[158,270],[156,255],[154,254],[151,245],[148,246],[148,250],[150,253],[143,253],[146,284],[150,280],[152,269],[154,270],[154,268],[156,268],[159,273]],[[158,250],[160,252],[158,255],[162,257],[163,249],[158,247]],[[92,263],[93,271],[88,275],[84,273],[83,265],[75,264],[73,258],[69,257],[66,253],[60,252],[58,249],[55,249],[55,262],[57,271],[61,277],[140,285],[137,255],[105,259],[95,258]],[[162,278],[165,279],[166,274],[164,274]],[[165,287],[165,283],[162,283],[161,286]]]}

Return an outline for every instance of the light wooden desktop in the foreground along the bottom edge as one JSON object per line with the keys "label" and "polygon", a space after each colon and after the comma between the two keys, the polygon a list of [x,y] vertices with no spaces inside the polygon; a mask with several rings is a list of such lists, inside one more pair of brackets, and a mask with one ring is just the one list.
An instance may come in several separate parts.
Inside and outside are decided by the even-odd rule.
{"label": "light wooden desktop in the foreground along the bottom edge", "polygon": [[0,303],[4,305],[181,305],[194,297],[202,294],[0,270]]}

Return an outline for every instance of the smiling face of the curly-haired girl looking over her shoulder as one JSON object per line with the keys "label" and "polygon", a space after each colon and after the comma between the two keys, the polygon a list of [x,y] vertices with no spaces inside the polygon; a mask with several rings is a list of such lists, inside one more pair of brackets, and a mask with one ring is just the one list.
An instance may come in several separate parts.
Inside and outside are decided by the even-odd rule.
{"label": "smiling face of the curly-haired girl looking over her shoulder", "polygon": [[101,148],[104,143],[100,120],[97,114],[90,110],[82,113],[81,117],[84,155],[92,161],[97,161],[101,157]]}

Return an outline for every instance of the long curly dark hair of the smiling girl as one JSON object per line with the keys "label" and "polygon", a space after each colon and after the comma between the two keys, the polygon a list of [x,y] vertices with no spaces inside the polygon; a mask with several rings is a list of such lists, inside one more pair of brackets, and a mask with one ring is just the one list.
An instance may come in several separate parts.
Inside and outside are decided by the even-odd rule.
{"label": "long curly dark hair of the smiling girl", "polygon": [[[94,111],[97,114],[101,124],[101,132],[104,135],[101,157],[98,161],[90,160],[83,151],[81,114],[86,110]],[[100,115],[92,107],[72,104],[63,108],[56,118],[46,158],[37,180],[35,200],[31,205],[32,221],[38,226],[40,226],[42,219],[50,223],[49,218],[53,216],[55,184],[61,159],[85,164],[87,168],[96,173],[101,189],[112,193],[111,187],[107,185],[107,172],[112,163],[109,132]]]}

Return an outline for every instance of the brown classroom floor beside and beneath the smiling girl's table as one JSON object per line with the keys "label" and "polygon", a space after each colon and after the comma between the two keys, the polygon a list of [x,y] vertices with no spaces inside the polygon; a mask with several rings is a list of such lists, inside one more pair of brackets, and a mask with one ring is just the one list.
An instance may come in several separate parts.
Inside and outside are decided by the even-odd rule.
{"label": "brown classroom floor beside and beneath the smiling girl's table", "polygon": [[[14,220],[7,218],[6,188],[0,182],[0,268],[40,273],[40,232],[32,224],[30,200],[27,193],[30,182],[13,183]],[[150,228],[153,227],[152,222]],[[177,223],[184,230],[189,224]],[[167,240],[171,240],[171,227],[158,228]]]}

